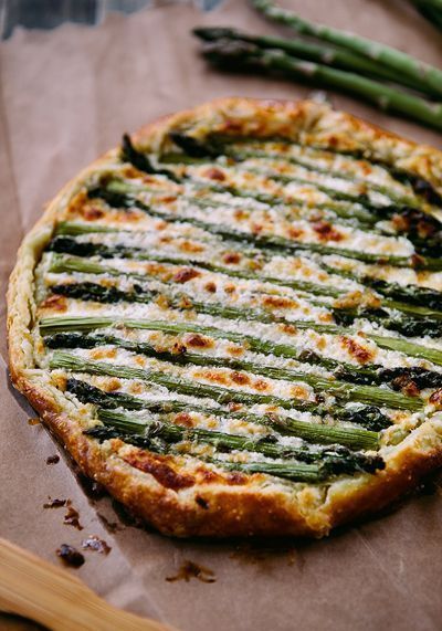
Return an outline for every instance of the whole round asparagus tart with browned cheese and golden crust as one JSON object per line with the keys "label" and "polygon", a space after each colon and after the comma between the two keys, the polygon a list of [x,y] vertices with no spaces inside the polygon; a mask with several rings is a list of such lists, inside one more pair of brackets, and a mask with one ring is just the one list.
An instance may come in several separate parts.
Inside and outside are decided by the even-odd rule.
{"label": "whole round asparagus tart with browned cheese and golden crust", "polygon": [[313,102],[125,135],[24,239],[11,376],[175,536],[323,536],[442,462],[442,153]]}

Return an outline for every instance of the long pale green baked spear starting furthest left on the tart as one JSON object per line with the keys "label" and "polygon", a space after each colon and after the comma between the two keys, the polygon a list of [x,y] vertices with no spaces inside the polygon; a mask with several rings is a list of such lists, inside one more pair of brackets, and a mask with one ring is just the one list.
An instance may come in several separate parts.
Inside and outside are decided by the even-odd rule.
{"label": "long pale green baked spear starting furthest left on the tart", "polygon": [[[346,381],[356,381],[358,379],[362,379],[362,382],[367,382],[365,381],[365,379],[367,379],[368,382],[370,382],[370,380],[375,380],[376,382],[376,379],[378,377],[377,366],[354,366],[350,364],[337,361],[335,359],[329,359],[320,355],[316,355],[311,350],[298,350],[296,347],[293,347],[288,344],[277,344],[251,335],[227,332],[215,327],[194,325],[192,323],[166,323],[162,320],[117,319],[115,317],[65,316],[65,317],[43,318],[42,320],[40,320],[40,330],[42,335],[51,335],[55,333],[72,332],[72,330],[91,332],[97,328],[106,328],[115,325],[118,326],[123,325],[127,328],[161,330],[162,333],[169,333],[172,335],[180,333],[198,333],[202,335],[209,335],[215,339],[217,338],[229,339],[236,344],[245,345],[251,350],[254,350],[256,353],[262,353],[264,355],[271,354],[275,355],[276,357],[297,359],[314,365],[317,364],[328,370],[338,369],[339,378]],[[402,341],[399,338],[376,336],[376,341],[379,346],[381,346],[381,343],[383,341],[386,344],[391,344],[391,339]],[[421,354],[425,354],[425,351],[431,351],[430,355],[433,358],[432,360],[434,361],[434,359],[438,359],[436,351],[431,350],[428,347],[411,343],[407,343],[407,347],[411,351],[421,353]],[[439,361],[442,362],[442,351],[439,351],[439,354],[441,356],[439,358]],[[413,403],[411,401],[413,401]],[[410,400],[410,406],[420,407],[420,404],[421,403],[417,402],[415,399]]]}

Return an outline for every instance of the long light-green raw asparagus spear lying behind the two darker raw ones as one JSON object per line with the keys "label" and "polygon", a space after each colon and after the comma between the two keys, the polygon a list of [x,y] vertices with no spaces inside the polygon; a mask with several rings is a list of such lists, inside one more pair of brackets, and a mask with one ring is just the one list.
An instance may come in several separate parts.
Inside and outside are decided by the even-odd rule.
{"label": "long light-green raw asparagus spear lying behind the two darker raw ones", "polygon": [[442,95],[442,71],[430,64],[418,61],[402,51],[360,35],[304,20],[293,11],[275,7],[271,0],[252,0],[252,3],[265,17],[291,27],[299,34],[324,40],[345,50],[352,51],[364,59],[376,60],[379,65],[397,73],[396,81],[398,83],[401,83],[402,77],[406,77],[408,82],[414,81],[417,86],[421,86],[424,83],[429,95]]}

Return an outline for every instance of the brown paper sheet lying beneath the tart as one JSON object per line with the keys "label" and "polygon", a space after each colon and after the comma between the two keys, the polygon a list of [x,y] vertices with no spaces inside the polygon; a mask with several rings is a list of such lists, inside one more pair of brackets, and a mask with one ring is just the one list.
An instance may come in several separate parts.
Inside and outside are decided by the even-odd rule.
{"label": "brown paper sheet lying beneath the tart", "polygon": [[[305,17],[351,29],[441,65],[441,34],[404,1],[293,0]],[[115,606],[181,631],[439,630],[442,620],[442,501],[431,494],[358,526],[314,541],[175,540],[130,525],[109,497],[84,492],[64,450],[9,383],[4,291],[23,233],[82,167],[159,116],[219,96],[305,97],[309,87],[271,78],[219,74],[198,56],[190,30],[225,24],[281,32],[244,1],[201,13],[168,4],[98,27],[17,29],[0,46],[0,535],[54,564],[63,543],[96,535],[108,555],[85,551],[81,577]],[[419,141],[441,135],[329,92],[335,106]],[[46,459],[61,460],[46,464]],[[82,530],[65,525],[70,499]],[[187,561],[215,579],[168,580]],[[1,568],[0,568],[1,571]],[[78,603],[81,606],[81,603]],[[1,627],[1,623],[0,623]]]}

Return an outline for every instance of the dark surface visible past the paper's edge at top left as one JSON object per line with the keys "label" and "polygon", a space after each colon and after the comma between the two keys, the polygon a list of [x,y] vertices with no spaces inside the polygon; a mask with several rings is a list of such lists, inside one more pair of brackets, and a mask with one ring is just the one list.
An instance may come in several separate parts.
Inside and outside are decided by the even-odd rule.
{"label": "dark surface visible past the paper's edge at top left", "polygon": [[[54,29],[63,22],[97,24],[109,11],[133,13],[146,7],[161,6],[168,0],[0,0],[0,34],[9,38],[17,25],[27,29]],[[169,0],[168,3],[170,3]],[[214,9],[222,0],[175,0],[188,2],[203,11]]]}

